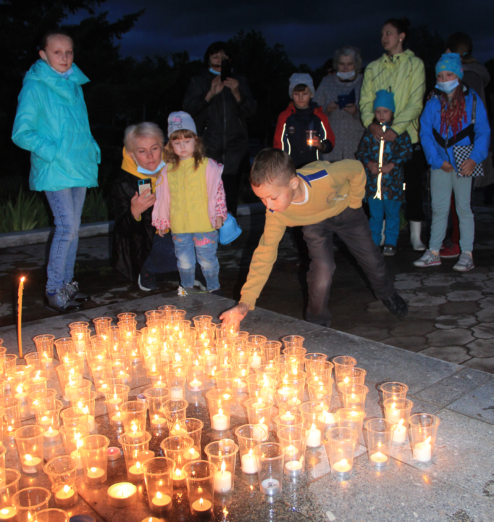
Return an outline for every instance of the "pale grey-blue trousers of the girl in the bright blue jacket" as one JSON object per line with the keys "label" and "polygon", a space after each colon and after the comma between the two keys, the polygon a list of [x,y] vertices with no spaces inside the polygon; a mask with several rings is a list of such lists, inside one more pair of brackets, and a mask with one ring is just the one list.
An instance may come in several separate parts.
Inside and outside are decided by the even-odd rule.
{"label": "pale grey-blue trousers of the girl in the bright blue jacket", "polygon": [[471,207],[473,177],[456,177],[457,173],[442,169],[430,171],[430,194],[432,196],[433,222],[430,227],[430,250],[439,251],[448,227],[451,191],[454,191],[456,213],[460,220],[460,248],[472,252],[475,233]]}

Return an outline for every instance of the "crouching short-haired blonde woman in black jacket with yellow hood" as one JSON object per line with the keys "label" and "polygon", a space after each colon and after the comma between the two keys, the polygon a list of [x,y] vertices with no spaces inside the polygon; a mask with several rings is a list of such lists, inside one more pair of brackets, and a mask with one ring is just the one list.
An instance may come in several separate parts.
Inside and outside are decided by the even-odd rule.
{"label": "crouching short-haired blonde woman in black jacket with yellow hood", "polygon": [[143,122],[125,129],[120,176],[112,188],[115,213],[112,265],[139,284],[156,290],[156,274],[177,270],[170,234],[163,237],[151,224],[154,186],[165,166],[165,137],[155,123]]}

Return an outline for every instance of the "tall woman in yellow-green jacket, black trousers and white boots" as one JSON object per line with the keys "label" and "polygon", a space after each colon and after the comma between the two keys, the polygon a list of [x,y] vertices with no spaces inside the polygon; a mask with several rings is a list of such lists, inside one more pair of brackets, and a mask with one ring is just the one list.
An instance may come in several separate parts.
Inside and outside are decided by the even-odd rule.
{"label": "tall woman in yellow-green jacket, black trousers and white boots", "polygon": [[[390,18],[381,30],[381,43],[386,53],[367,65],[360,92],[362,123],[376,139],[384,136],[393,141],[407,131],[412,138],[413,156],[404,164],[406,214],[410,222],[410,241],[414,250],[425,250],[420,239],[422,221],[422,174],[425,157],[418,138],[418,118],[422,113],[425,93],[424,63],[410,50],[403,50],[410,22],[406,18]],[[394,93],[396,112],[393,125],[382,132],[374,122],[373,102],[376,92],[385,89]]]}

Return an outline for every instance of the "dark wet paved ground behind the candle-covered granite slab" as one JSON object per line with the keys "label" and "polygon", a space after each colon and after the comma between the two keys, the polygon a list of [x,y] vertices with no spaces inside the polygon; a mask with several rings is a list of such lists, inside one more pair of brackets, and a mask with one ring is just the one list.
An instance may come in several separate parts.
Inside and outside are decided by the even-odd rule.
{"label": "dark wet paved ground behind the candle-covered granite slab", "polygon": [[[481,193],[476,193],[475,269],[466,274],[452,270],[455,259],[428,269],[414,267],[413,261],[421,254],[412,250],[407,229],[400,232],[397,254],[387,257],[386,264],[397,290],[409,304],[410,312],[404,319],[397,319],[375,300],[355,260],[335,238],[337,268],[329,301],[331,328],[494,373],[494,208],[482,206],[480,200]],[[238,222],[243,229],[241,236],[218,248],[221,289],[230,299],[240,296],[252,252],[263,231],[264,216],[241,216]],[[427,239],[425,230],[422,239]],[[92,295],[92,301],[84,305],[86,309],[178,287],[178,274],[166,274],[158,277],[155,292],[141,291],[109,266],[110,245],[111,236],[79,242],[76,280]],[[0,249],[0,326],[16,320],[13,303],[17,303],[18,278],[22,275],[27,278],[23,321],[56,315],[43,309],[46,259],[45,244]],[[257,306],[302,319],[308,263],[301,231],[289,229]]]}

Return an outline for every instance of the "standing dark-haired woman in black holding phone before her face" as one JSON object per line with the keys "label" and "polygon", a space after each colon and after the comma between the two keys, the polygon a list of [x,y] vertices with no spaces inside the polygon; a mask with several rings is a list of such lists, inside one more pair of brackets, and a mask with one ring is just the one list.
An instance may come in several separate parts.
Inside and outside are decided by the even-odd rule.
{"label": "standing dark-haired woman in black holding phone before her face", "polygon": [[232,77],[221,79],[221,61],[226,64],[231,57],[225,42],[209,45],[204,54],[206,68],[191,79],[183,110],[194,118],[207,157],[224,165],[221,179],[227,209],[236,216],[242,165],[246,172],[250,171],[245,118],[255,114],[257,104],[243,76],[233,73]]}

